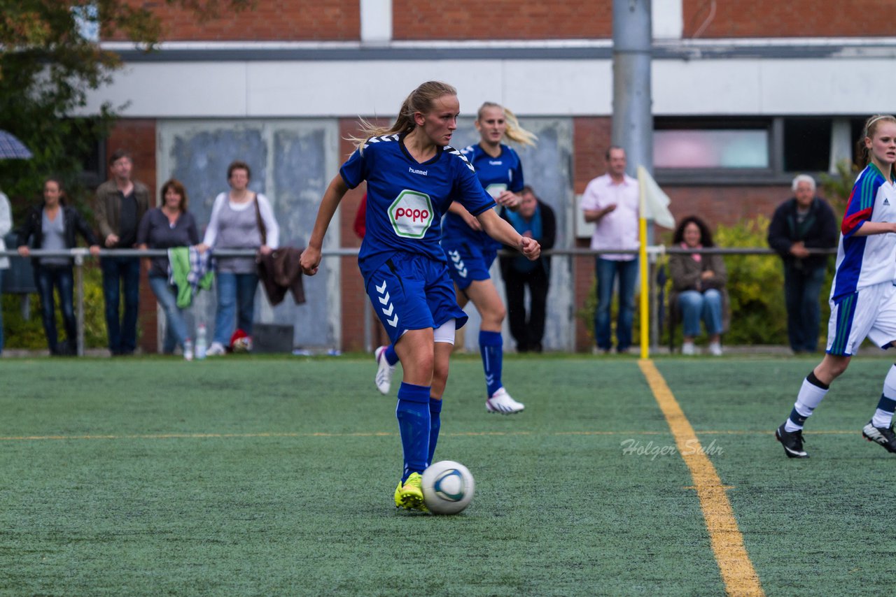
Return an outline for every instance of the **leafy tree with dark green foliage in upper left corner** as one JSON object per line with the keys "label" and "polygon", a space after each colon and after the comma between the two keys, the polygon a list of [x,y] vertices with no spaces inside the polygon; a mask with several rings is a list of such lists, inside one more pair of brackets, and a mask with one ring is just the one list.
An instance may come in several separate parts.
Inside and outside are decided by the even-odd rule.
{"label": "leafy tree with dark green foliage in upper left corner", "polygon": [[[250,8],[254,0],[166,0],[199,20],[225,10]],[[30,160],[0,160],[0,188],[21,212],[39,195],[47,175],[60,176],[75,198],[81,194],[84,160],[108,134],[116,111],[103,105],[82,115],[90,90],[111,81],[121,60],[101,38],[125,38],[152,51],[162,23],[152,4],[135,0],[0,0],[0,129],[32,151]],[[103,171],[100,168],[100,171]]]}

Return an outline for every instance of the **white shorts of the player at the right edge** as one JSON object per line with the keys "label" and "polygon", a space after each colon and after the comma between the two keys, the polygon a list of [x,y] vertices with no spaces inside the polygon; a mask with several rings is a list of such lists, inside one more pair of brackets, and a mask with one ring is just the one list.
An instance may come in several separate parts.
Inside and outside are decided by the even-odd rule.
{"label": "white shorts of the player at the right edge", "polygon": [[896,286],[884,282],[831,301],[828,354],[852,356],[865,338],[886,348],[896,340]]}

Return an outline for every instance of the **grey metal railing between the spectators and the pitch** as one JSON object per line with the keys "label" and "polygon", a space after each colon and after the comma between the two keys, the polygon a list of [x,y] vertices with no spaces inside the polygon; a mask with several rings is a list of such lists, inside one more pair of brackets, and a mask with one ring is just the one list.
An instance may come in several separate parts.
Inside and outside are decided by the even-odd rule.
{"label": "grey metal railing between the spectators and the pitch", "polygon": [[[327,249],[321,252],[321,256],[323,258],[334,258],[334,257],[357,257],[358,256],[358,248],[350,247],[350,248],[339,248],[339,249]],[[681,247],[667,247],[662,244],[650,245],[646,249],[647,258],[648,258],[648,292],[650,296],[650,321],[655,322],[658,320],[658,305],[656,301],[656,268],[657,263],[664,255],[672,255],[672,254],[694,254],[694,253],[702,253],[702,254],[710,254],[710,255],[776,255],[777,252],[769,249],[767,247],[712,247],[712,248],[704,248],[704,249],[684,249]],[[809,249],[808,252],[810,254],[822,254],[822,255],[832,255],[836,254],[836,249]],[[632,254],[637,255],[639,252],[637,250],[622,250],[622,249],[614,249],[614,250],[601,250],[596,251],[593,249],[580,249],[580,248],[570,248],[570,249],[551,249],[550,251],[542,252],[542,255],[545,256],[557,256],[557,257],[597,257],[598,255],[605,254]],[[254,257],[256,252],[251,249],[221,249],[218,251],[214,251],[214,255],[216,257]],[[499,255],[510,256],[516,253],[510,251],[501,251],[498,252]],[[0,251],[0,256],[6,256],[13,259],[34,259],[39,257],[71,257],[73,259],[74,273],[75,273],[75,317],[77,321],[77,354],[78,356],[82,356],[84,354],[84,276],[83,276],[83,267],[85,259],[95,259],[95,257],[90,253],[89,249],[86,248],[76,248],[69,249],[65,251],[47,251],[44,249],[30,249],[30,254],[28,257],[22,257],[19,252],[13,250]],[[99,251],[99,257],[167,257],[168,250],[165,249],[101,249]],[[571,285],[573,288],[576,287],[576,277],[575,277],[576,269],[571,268]],[[574,295],[574,291],[573,291]],[[367,352],[372,352],[373,350],[373,330],[374,330],[374,320],[372,319],[372,314],[367,310],[367,316],[364,318],[364,342],[365,349]],[[656,325],[650,326],[650,346],[656,347],[659,345],[659,328]]]}

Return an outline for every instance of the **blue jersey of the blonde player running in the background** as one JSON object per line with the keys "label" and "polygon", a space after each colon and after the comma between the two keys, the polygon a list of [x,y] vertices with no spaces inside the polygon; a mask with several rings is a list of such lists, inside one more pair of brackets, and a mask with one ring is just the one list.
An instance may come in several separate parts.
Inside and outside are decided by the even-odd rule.
{"label": "blue jersey of the blonde player running in the background", "polygon": [[[463,149],[462,153],[476,168],[476,175],[479,182],[482,183],[482,188],[491,197],[496,199],[504,191],[522,191],[522,163],[520,156],[513,148],[502,145],[501,155],[497,158],[489,156],[485,149],[482,149],[478,144],[470,145],[470,147]],[[492,249],[501,246],[501,243],[493,240],[486,233],[473,230],[470,226],[467,226],[463,218],[457,214],[448,213],[445,215],[442,226],[445,237],[452,239],[451,243],[467,241]]]}

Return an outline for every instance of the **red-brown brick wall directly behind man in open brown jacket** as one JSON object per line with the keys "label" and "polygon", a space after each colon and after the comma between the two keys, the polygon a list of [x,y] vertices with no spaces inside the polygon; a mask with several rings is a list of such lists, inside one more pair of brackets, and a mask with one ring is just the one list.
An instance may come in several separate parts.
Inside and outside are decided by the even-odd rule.
{"label": "red-brown brick wall directly behind man in open brown jacket", "polygon": [[[156,204],[156,121],[152,119],[119,120],[106,143],[107,155],[126,149],[134,156],[134,180],[150,187],[151,207]],[[140,315],[137,326],[142,330],[138,348],[144,353],[158,350],[158,318],[156,297],[152,294],[146,269],[141,268]]]}

